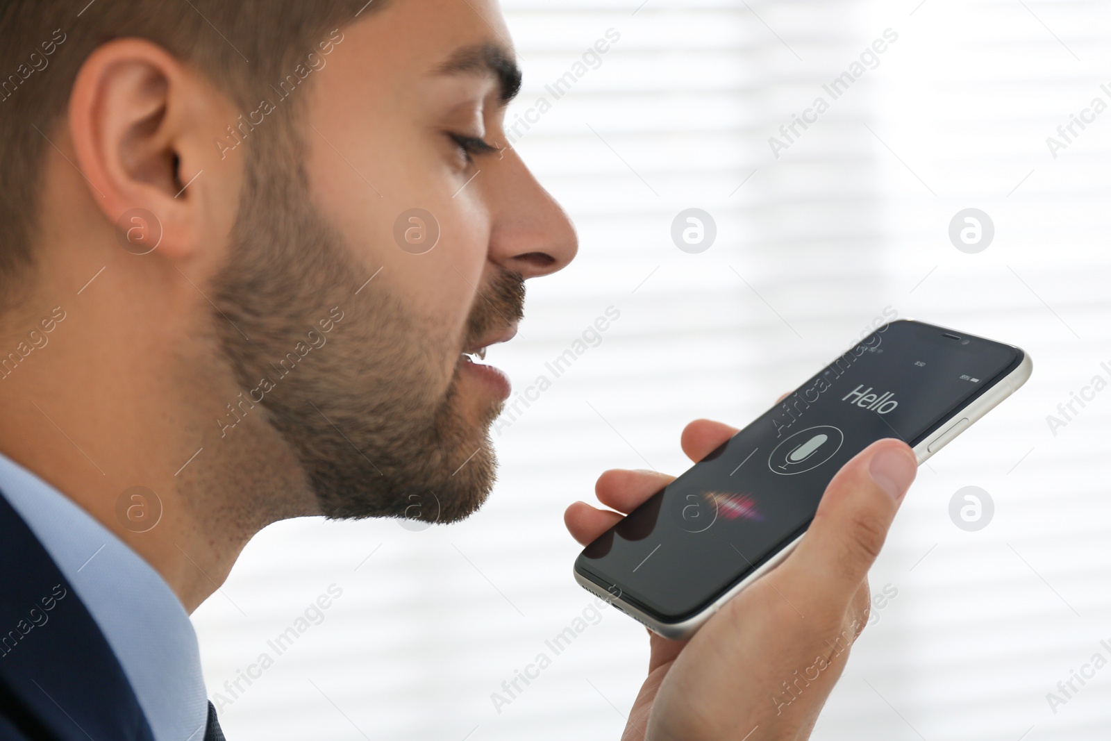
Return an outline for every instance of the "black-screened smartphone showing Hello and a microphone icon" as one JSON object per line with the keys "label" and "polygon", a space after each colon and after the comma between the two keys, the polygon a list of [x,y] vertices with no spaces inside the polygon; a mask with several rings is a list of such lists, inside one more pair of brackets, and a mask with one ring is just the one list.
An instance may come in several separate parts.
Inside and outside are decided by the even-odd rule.
{"label": "black-screened smartphone showing Hello and a microphone icon", "polygon": [[574,578],[660,635],[690,638],[791,552],[849,459],[899,438],[921,464],[1032,368],[1013,346],[883,324],[587,545]]}

